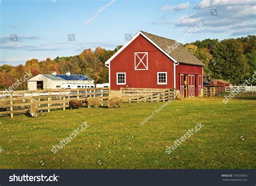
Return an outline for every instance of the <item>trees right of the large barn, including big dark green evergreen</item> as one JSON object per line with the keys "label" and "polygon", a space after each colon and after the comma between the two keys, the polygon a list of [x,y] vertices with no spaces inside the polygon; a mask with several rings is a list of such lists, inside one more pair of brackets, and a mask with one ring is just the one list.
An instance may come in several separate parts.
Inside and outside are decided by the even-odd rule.
{"label": "trees right of the large barn, including big dark green evergreen", "polygon": [[[256,36],[237,39],[205,39],[185,48],[205,64],[204,77],[242,84],[256,70]],[[252,82],[256,84],[256,82]]]}

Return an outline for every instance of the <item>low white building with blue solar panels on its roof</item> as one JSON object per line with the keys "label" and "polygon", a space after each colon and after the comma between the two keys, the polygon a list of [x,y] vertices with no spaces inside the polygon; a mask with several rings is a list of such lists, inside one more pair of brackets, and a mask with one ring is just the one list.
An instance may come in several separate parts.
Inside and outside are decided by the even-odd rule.
{"label": "low white building with blue solar panels on its roof", "polygon": [[94,88],[94,80],[84,75],[38,74],[28,80],[28,90]]}

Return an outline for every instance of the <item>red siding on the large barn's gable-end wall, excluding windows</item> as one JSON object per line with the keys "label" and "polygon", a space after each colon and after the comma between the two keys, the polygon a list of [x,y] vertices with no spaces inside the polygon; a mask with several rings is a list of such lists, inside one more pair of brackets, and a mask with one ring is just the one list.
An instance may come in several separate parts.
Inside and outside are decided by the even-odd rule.
{"label": "red siding on the large barn's gable-end wall, excluding windows", "polygon": [[[148,70],[134,70],[134,52],[148,52]],[[167,72],[167,84],[157,84],[157,72]],[[117,85],[116,73],[126,73],[126,85]],[[110,62],[110,89],[174,88],[173,62],[139,35]]]}

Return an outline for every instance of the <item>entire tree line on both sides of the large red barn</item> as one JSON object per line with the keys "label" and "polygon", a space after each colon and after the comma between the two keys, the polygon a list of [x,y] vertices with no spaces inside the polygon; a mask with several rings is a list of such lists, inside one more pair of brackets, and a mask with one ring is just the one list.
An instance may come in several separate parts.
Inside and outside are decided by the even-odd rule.
{"label": "entire tree line on both sides of the large red barn", "polygon": [[[0,66],[0,89],[8,89],[26,73],[38,74],[83,74],[95,80],[95,83],[106,83],[109,79],[105,62],[122,46],[113,51],[97,47],[95,51],[85,49],[82,53],[69,57],[47,58],[43,61],[31,59],[25,65],[16,67]],[[185,48],[205,64],[204,81],[211,78],[230,81],[232,84],[243,83],[254,75],[256,70],[256,36],[248,35],[237,39],[205,39],[185,44]],[[207,77],[207,79],[206,79]],[[253,82],[252,84],[256,84]],[[27,83],[19,84],[16,90],[26,90]]]}

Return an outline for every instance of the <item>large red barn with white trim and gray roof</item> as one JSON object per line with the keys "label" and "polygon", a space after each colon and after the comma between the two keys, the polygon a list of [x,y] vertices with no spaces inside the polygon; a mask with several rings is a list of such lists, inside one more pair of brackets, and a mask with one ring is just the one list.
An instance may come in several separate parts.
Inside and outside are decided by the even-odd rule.
{"label": "large red barn with white trim and gray roof", "polygon": [[109,60],[111,90],[176,88],[183,97],[200,95],[204,63],[175,40],[139,31]]}

